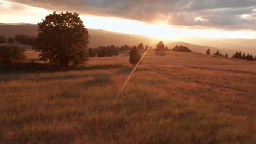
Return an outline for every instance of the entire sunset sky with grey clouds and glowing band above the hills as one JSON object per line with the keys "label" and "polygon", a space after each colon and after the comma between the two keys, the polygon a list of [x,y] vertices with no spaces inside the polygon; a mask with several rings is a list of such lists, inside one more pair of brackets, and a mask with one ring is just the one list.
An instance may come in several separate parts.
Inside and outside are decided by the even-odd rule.
{"label": "entire sunset sky with grey clouds and glowing band above the hills", "polygon": [[0,0],[0,23],[79,13],[86,28],[175,40],[256,38],[255,0]]}

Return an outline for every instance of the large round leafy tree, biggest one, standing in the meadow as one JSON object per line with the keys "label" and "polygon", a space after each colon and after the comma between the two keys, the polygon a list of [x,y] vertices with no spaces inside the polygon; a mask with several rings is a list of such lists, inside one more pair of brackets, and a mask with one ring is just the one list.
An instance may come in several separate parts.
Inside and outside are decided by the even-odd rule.
{"label": "large round leafy tree, biggest one, standing in the meadow", "polygon": [[40,60],[68,66],[89,60],[88,31],[77,13],[50,14],[38,23],[39,34],[35,50]]}

